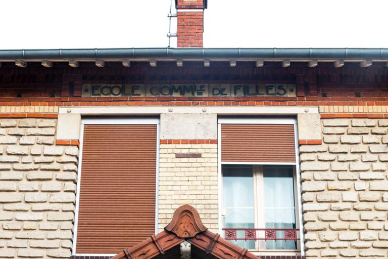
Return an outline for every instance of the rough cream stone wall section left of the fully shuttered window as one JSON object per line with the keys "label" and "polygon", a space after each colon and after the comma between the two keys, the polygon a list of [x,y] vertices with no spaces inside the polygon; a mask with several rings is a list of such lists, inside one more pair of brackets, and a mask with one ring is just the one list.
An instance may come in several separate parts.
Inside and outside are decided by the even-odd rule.
{"label": "rough cream stone wall section left of the fully shuttered window", "polygon": [[78,147],[56,119],[0,119],[0,257],[69,258]]}

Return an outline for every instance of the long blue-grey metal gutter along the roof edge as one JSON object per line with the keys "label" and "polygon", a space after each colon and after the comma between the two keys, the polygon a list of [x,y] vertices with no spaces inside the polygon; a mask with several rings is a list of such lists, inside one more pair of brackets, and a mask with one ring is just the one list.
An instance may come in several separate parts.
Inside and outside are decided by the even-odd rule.
{"label": "long blue-grey metal gutter along the roof edge", "polygon": [[1,61],[95,60],[95,59],[301,59],[301,60],[388,60],[388,49],[55,49],[0,50]]}

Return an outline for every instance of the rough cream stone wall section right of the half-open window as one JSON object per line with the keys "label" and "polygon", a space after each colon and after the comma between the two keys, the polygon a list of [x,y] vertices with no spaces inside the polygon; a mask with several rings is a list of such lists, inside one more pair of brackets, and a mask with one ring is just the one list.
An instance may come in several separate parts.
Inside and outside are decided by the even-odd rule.
{"label": "rough cream stone wall section right of the half-open window", "polygon": [[308,258],[388,256],[388,120],[322,119],[300,147]]}

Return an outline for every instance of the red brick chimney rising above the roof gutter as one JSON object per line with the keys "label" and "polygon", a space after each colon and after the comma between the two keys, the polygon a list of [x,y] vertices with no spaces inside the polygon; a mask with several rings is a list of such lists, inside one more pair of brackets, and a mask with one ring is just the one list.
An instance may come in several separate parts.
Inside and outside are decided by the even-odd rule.
{"label": "red brick chimney rising above the roof gutter", "polygon": [[204,10],[207,0],[175,0],[178,48],[204,47]]}

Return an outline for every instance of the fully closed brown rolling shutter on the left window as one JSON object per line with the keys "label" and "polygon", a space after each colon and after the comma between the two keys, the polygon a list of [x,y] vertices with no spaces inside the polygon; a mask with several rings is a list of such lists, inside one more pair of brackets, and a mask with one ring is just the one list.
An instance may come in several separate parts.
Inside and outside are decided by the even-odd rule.
{"label": "fully closed brown rolling shutter on the left window", "polygon": [[76,253],[155,234],[157,125],[84,126]]}

